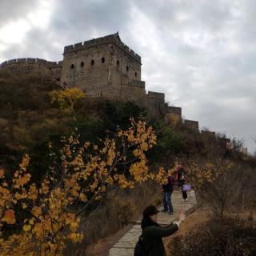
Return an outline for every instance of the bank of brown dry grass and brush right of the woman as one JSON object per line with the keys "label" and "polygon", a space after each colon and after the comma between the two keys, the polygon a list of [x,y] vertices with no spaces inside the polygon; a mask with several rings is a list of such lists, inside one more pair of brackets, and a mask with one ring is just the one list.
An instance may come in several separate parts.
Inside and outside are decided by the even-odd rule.
{"label": "bank of brown dry grass and brush right of the woman", "polygon": [[180,230],[165,239],[167,256],[255,255],[256,213],[225,214],[213,218],[209,210],[197,210]]}

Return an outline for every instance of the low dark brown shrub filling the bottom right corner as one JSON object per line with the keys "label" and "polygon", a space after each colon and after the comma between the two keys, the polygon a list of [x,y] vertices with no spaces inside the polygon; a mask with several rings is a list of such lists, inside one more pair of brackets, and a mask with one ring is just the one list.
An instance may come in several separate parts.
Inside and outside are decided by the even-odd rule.
{"label": "low dark brown shrub filling the bottom right corner", "polygon": [[170,252],[174,256],[256,255],[255,222],[212,218],[185,236],[174,237]]}

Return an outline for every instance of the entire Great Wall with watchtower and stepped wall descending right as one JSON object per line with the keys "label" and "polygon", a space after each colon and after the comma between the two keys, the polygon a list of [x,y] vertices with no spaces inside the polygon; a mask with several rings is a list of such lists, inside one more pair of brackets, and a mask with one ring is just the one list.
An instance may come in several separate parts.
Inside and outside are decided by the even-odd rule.
{"label": "entire Great Wall with watchtower and stepped wall descending right", "polygon": [[[115,102],[135,102],[146,107],[154,117],[164,114],[167,123],[176,120],[199,132],[199,124],[182,120],[182,108],[168,106],[165,94],[145,90],[141,81],[141,57],[120,39],[118,33],[65,46],[63,60],[49,62],[42,58],[18,58],[2,62],[0,74],[33,74],[38,78],[54,78],[64,85],[76,86],[91,97]],[[202,130],[202,136],[216,138],[212,131]],[[218,138],[230,145],[229,138]]]}

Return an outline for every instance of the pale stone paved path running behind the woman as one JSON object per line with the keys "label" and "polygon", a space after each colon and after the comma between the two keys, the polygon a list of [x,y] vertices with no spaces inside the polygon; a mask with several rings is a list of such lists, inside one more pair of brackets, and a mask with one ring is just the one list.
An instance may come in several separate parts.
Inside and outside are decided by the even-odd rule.
{"label": "pale stone paved path running behind the woman", "polygon": [[[187,214],[197,205],[194,191],[190,192],[189,201],[182,202],[182,193],[175,190],[171,195],[172,204],[174,206],[174,214],[169,215],[160,212],[158,214],[158,223],[162,226],[174,222],[178,218],[178,211],[184,210]],[[159,208],[162,210],[162,207]],[[109,256],[133,256],[134,246],[138,241],[139,235],[142,233],[140,220],[110,249]]]}

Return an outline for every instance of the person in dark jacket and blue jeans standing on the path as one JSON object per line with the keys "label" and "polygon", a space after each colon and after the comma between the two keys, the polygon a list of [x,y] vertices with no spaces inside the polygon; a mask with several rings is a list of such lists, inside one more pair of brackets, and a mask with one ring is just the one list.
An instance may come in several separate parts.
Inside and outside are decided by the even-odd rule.
{"label": "person in dark jacket and blue jeans standing on the path", "polygon": [[162,185],[162,204],[163,212],[174,214],[174,208],[171,203],[171,194],[174,191],[174,178],[166,172],[167,183]]}

